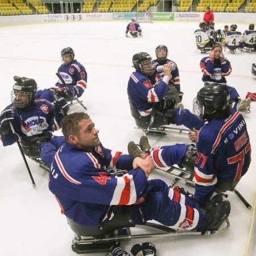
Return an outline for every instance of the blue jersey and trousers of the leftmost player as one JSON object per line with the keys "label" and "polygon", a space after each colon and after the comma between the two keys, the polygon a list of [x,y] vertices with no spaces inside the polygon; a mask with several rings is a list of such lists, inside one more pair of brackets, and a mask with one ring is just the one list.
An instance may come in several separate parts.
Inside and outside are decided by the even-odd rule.
{"label": "blue jersey and trousers of the leftmost player", "polygon": [[[37,95],[39,96],[40,93],[43,93],[43,91],[39,92]],[[10,104],[5,109],[13,109],[14,121],[12,123],[20,142],[28,137],[40,136],[59,130],[60,126],[58,121],[63,118],[63,115],[55,112],[55,108],[51,102],[41,98],[35,98],[35,102],[25,109],[17,109],[13,104]],[[3,146],[9,146],[16,142],[11,131],[7,135],[2,134],[1,140]],[[58,148],[63,141],[63,136],[53,136],[51,142],[42,142],[43,147],[40,151],[40,158],[42,158],[47,166],[51,166],[56,148]]]}

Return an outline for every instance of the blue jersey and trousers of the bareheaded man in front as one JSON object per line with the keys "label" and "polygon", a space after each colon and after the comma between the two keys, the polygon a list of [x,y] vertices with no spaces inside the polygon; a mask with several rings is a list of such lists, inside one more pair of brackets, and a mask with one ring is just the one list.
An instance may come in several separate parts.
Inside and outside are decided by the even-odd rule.
{"label": "blue jersey and trousers of the bareheaded man in front", "polygon": [[[135,224],[156,220],[189,230],[202,228],[205,212],[188,197],[162,180],[147,181],[141,169],[133,170],[134,157],[100,146],[85,152],[64,143],[49,172],[49,189],[61,213],[80,225],[96,226],[105,219],[110,205],[129,210]],[[127,170],[123,176],[108,170]]]}

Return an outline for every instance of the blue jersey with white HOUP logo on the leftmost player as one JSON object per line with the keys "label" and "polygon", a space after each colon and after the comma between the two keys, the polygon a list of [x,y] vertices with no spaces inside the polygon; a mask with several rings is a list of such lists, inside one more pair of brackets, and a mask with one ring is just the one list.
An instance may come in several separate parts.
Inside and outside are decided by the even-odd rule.
{"label": "blue jersey with white HOUP logo on the leftmost player", "polygon": [[[13,104],[5,109],[13,109],[14,121],[12,123],[20,142],[27,137],[52,133],[60,129],[56,120],[61,120],[58,116],[61,114],[56,113],[54,106],[47,100],[35,99],[33,104],[24,109],[16,109]],[[7,135],[1,135],[1,140],[3,146],[9,146],[16,142],[11,132]]]}

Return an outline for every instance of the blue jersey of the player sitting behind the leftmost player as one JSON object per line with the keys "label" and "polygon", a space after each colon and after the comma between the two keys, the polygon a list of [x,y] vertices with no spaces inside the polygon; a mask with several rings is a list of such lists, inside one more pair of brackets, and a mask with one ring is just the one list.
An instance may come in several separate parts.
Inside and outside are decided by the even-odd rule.
{"label": "blue jersey of the player sitting behind the leftmost player", "polygon": [[[81,97],[87,86],[87,73],[84,66],[78,61],[74,60],[72,64],[61,65],[58,68],[58,73],[67,84],[68,88],[75,86],[76,96]],[[63,84],[60,80],[55,86],[63,88]]]}

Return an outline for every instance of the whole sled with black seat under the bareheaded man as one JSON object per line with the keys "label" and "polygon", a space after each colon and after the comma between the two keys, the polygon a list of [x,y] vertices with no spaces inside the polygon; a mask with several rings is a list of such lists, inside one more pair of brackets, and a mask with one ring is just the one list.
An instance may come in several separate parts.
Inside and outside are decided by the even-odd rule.
{"label": "whole sled with black seat under the bareheaded man", "polygon": [[[109,251],[112,245],[119,246],[121,241],[127,241],[133,238],[211,235],[225,232],[230,226],[227,218],[220,228],[215,231],[180,231],[152,222],[146,222],[146,225],[135,225],[127,213],[114,214],[112,219],[103,221],[99,226],[82,226],[69,218],[67,218],[67,220],[72,231],[75,232],[75,238],[72,240],[72,250],[77,254]],[[144,229],[143,234],[141,230],[139,232],[140,234],[133,234],[135,230],[132,228],[135,228],[135,226]],[[133,232],[131,232],[131,229]],[[159,233],[152,232],[152,230]]]}

